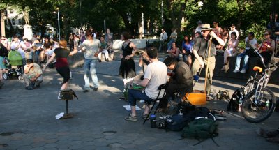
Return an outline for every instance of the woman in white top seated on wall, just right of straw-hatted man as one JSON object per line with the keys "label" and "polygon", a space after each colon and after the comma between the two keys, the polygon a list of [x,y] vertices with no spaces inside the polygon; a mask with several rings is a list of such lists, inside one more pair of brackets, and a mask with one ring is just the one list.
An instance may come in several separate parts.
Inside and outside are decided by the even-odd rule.
{"label": "woman in white top seated on wall, just right of straw-hatted man", "polygon": [[225,67],[228,63],[227,57],[234,57],[237,54],[236,50],[237,50],[237,47],[239,46],[239,40],[237,40],[236,37],[237,37],[236,33],[232,32],[231,33],[231,40],[229,40],[229,43],[227,45],[227,49],[224,52],[224,66],[221,69],[221,71],[229,69],[229,68]]}

